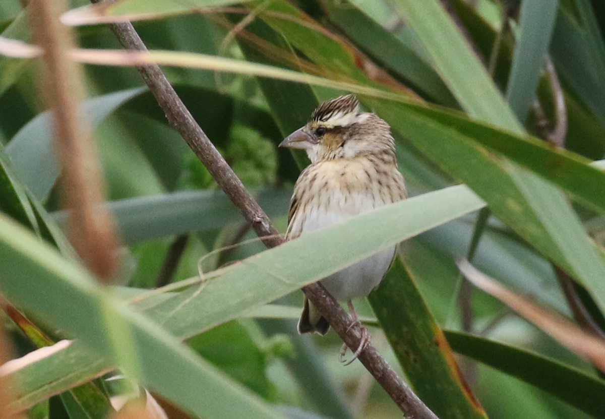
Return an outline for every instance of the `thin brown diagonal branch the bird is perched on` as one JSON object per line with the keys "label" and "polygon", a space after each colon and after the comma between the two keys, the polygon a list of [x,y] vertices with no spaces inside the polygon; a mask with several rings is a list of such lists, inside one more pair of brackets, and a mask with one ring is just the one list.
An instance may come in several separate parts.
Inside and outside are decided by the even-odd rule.
{"label": "thin brown diagonal branch the bird is perched on", "polygon": [[[97,1],[91,0],[93,3]],[[146,51],[145,44],[143,44],[130,23],[111,24],[110,27],[126,49]],[[247,192],[241,180],[238,179],[231,167],[195,122],[160,67],[158,65],[145,65],[137,67],[137,70],[139,70],[149,90],[165,112],[169,124],[185,139],[224,193],[240,209],[244,219],[252,225],[257,235],[261,239],[265,238],[263,240],[265,245],[271,248],[283,243],[284,240],[278,236],[278,231],[270,222],[269,217]],[[358,323],[353,322],[353,319],[342,309],[332,295],[319,283],[304,286],[302,291],[318,308],[319,312],[327,318],[330,325],[349,348],[358,348],[362,336],[361,328]],[[367,345],[359,355],[359,360],[404,412],[405,417],[437,418],[416,394],[404,384],[401,378],[397,377],[397,374],[376,348]]]}

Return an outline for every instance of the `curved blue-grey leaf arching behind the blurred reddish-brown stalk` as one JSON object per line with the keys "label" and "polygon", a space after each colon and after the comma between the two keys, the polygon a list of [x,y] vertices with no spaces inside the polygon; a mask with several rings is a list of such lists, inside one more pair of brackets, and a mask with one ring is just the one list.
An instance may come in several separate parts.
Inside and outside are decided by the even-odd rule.
{"label": "curved blue-grey leaf arching behind the blurred reddish-brown stalk", "polygon": [[[117,107],[143,90],[135,88],[88,99],[83,105],[83,115],[92,125],[99,124]],[[51,152],[54,148],[54,131],[51,127],[51,114],[46,111],[25,125],[5,149],[19,181],[41,201],[47,199],[60,173],[57,157]]]}

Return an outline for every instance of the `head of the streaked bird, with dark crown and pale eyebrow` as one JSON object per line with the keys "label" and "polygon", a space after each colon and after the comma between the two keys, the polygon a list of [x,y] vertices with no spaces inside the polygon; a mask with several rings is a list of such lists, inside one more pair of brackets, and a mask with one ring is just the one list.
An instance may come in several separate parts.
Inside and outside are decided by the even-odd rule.
{"label": "head of the streaked bird, with dark crown and pale eyebrow", "polygon": [[361,113],[353,94],[320,104],[309,122],[287,136],[280,147],[306,150],[311,163],[375,154],[387,154],[394,161],[387,122],[374,113]]}

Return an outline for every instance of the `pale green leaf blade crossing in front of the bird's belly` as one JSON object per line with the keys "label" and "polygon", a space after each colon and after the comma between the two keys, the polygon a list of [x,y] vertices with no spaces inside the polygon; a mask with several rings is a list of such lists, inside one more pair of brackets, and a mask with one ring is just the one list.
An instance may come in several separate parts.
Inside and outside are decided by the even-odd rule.
{"label": "pale green leaf blade crossing in front of the bird's belly", "polygon": [[[448,208],[436,208],[437,204],[429,202],[448,202]],[[452,186],[384,206],[211,272],[200,285],[148,306],[145,312],[178,336],[189,337],[482,205],[464,186]],[[361,241],[355,239],[360,231],[364,232]],[[324,250],[327,246],[329,258]],[[247,278],[245,283],[238,272]],[[220,279],[214,279],[215,275]],[[232,293],[235,288],[238,298]],[[195,323],[188,321],[192,312],[200,316]]]}

